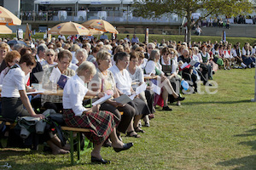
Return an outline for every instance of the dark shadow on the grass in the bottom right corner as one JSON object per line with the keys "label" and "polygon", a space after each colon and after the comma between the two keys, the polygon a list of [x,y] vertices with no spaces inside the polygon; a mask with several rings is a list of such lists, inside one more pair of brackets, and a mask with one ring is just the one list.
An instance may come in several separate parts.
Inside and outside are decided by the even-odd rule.
{"label": "dark shadow on the grass in the bottom right corner", "polygon": [[256,167],[256,155],[253,156],[245,156],[241,158],[231,159],[229,161],[219,161],[217,165],[224,167],[235,167],[234,169],[255,169]]}

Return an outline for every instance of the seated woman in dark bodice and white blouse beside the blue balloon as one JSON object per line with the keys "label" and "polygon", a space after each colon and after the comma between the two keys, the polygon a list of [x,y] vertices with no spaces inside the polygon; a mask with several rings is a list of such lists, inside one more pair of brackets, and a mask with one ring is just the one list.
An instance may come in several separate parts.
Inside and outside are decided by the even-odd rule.
{"label": "seated woman in dark bodice and white blouse beside the blue balloon", "polygon": [[[181,88],[182,77],[177,74],[177,62],[174,57],[177,55],[177,51],[173,48],[163,48],[161,50],[160,65],[162,65],[162,71],[165,76],[168,77],[172,84],[174,91],[179,94]],[[169,95],[170,103],[174,101],[174,97]],[[177,101],[177,105],[181,105],[180,101]]]}

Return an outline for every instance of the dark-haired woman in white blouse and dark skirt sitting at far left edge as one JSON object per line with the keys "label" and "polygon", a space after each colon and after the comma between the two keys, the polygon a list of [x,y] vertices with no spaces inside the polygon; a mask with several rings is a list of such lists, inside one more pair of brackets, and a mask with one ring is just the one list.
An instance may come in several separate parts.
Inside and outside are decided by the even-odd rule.
{"label": "dark-haired woman in white blouse and dark skirt sitting at far left edge", "polygon": [[[17,51],[11,54],[18,56]],[[19,57],[18,57],[19,58]],[[25,76],[32,71],[36,65],[36,60],[32,54],[24,54],[19,64],[13,65],[6,77],[3,78],[3,88],[1,93],[2,116],[15,120],[17,116],[33,116],[44,118],[42,114],[36,114],[26,95]],[[26,109],[24,109],[24,107]],[[53,154],[67,154],[69,151],[61,149],[60,139],[50,138],[49,133],[44,133],[44,141],[47,141]],[[64,147],[65,149],[67,146]]]}

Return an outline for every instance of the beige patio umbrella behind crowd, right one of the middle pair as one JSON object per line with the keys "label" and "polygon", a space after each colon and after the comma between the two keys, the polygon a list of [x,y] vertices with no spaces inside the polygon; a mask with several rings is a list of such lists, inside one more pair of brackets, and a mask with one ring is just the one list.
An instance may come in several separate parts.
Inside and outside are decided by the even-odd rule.
{"label": "beige patio umbrella behind crowd, right one of the middle pair", "polygon": [[82,24],[86,28],[94,28],[98,31],[110,32],[114,34],[118,34],[117,31],[108,21],[106,20],[87,20]]}

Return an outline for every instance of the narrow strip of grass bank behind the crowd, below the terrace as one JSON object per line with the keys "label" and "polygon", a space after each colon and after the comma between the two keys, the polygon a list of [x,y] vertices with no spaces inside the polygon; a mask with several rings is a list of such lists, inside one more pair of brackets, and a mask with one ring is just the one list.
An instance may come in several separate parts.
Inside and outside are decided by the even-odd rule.
{"label": "narrow strip of grass bank behind the crowd, below the terrace", "polygon": [[[111,34],[107,34],[108,35],[108,39],[111,38]],[[127,34],[118,34],[118,39],[124,39],[126,37]],[[132,34],[129,34],[130,38],[132,37]],[[0,34],[0,37],[9,37],[9,38],[14,38],[16,37],[16,34]],[[36,35],[32,35],[32,38],[35,39],[43,39],[44,37],[44,33],[36,33]],[[57,37],[57,36],[55,36]],[[66,36],[67,37],[67,36]],[[97,36],[98,38],[100,36]],[[141,42],[145,41],[145,35],[144,34],[137,34],[137,37],[140,39]],[[183,42],[184,41],[184,36],[177,36],[177,35],[157,35],[157,34],[149,34],[148,35],[148,42],[153,42],[154,40],[157,40],[158,42],[161,42],[162,39],[166,39],[166,41],[172,40],[172,41],[176,41],[176,42]],[[209,36],[192,36],[191,37],[191,41],[195,41],[195,42],[207,42],[208,40],[211,40],[212,42],[215,41],[220,41],[221,37],[209,37]],[[256,43],[256,38],[252,38],[252,37],[227,37],[227,41],[231,42],[232,44],[235,44],[236,42],[241,42],[241,46],[243,46],[243,44],[245,42],[249,42],[250,44],[254,44]]]}

